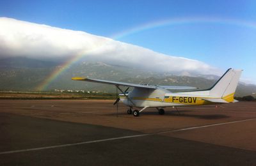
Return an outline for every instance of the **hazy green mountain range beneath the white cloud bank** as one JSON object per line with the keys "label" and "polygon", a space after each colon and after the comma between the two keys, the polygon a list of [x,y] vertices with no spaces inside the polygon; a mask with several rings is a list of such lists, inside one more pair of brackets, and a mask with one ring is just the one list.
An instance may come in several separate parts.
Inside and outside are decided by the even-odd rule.
{"label": "hazy green mountain range beneath the white cloud bank", "polygon": [[[1,91],[36,91],[38,86],[56,69],[63,68],[60,63],[29,59],[27,57],[0,59]],[[60,73],[56,79],[45,87],[44,91],[53,89],[72,89],[86,91],[115,92],[115,87],[92,82],[71,80],[72,77],[90,77],[95,79],[117,80],[140,84],[193,86],[199,89],[211,87],[219,78],[216,75],[198,75],[185,73],[160,73],[141,70],[131,66],[118,66],[106,63],[79,61]],[[253,84],[239,83],[236,96],[246,96],[256,92]]]}

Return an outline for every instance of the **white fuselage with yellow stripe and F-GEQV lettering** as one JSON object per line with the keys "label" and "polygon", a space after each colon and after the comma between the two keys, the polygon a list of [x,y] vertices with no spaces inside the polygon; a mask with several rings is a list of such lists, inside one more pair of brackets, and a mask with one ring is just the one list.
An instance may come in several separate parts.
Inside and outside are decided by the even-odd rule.
{"label": "white fuselage with yellow stripe and F-GEQV lettering", "polygon": [[134,88],[127,94],[128,98],[120,94],[120,100],[129,107],[172,107],[184,105],[212,104],[204,98],[214,98],[207,95],[207,91],[186,93],[172,93],[166,89]]}

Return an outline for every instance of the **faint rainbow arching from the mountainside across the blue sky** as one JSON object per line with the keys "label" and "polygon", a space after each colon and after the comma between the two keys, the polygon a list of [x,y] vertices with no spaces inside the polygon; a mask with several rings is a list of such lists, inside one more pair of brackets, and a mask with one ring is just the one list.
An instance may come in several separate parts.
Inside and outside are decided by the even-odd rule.
{"label": "faint rainbow arching from the mountainside across the blue sky", "polygon": [[[131,34],[140,33],[141,31],[147,31],[149,29],[155,29],[160,27],[166,26],[179,26],[182,24],[224,24],[230,26],[240,26],[240,27],[247,27],[251,29],[256,29],[256,22],[248,22],[244,20],[236,20],[236,19],[220,19],[216,17],[186,17],[186,18],[175,18],[175,19],[164,19],[164,20],[157,20],[153,22],[147,22],[145,24],[141,24],[140,26],[132,27],[130,29],[126,29],[125,31],[121,31],[119,33],[115,33],[111,35],[109,38],[113,40],[120,40],[125,36],[129,36]],[[102,43],[99,45],[101,47],[104,45]],[[93,48],[93,50],[98,49],[99,47]],[[92,50],[90,50],[92,51]],[[68,67],[72,66],[72,64],[76,63],[82,57],[86,56],[89,51],[81,51],[78,52],[76,55],[73,55],[68,61],[61,64],[58,68],[56,68],[40,85],[36,87],[37,91],[45,91],[45,89],[51,84],[51,82],[56,79],[60,73],[67,70]]]}

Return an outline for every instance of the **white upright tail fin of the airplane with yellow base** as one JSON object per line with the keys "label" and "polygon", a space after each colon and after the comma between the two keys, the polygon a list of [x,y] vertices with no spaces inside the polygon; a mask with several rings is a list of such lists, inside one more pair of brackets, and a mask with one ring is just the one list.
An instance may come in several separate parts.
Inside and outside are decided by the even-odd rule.
{"label": "white upright tail fin of the airplane with yellow base", "polygon": [[234,94],[243,70],[229,68],[226,73],[210,89],[210,95],[234,102]]}

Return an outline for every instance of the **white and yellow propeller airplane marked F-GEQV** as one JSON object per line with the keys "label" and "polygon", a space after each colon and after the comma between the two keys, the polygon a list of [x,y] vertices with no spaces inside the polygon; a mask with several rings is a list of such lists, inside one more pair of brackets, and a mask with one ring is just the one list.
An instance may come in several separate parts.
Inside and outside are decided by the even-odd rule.
{"label": "white and yellow propeller airplane marked F-GEQV", "polygon": [[[111,80],[88,79],[86,77],[73,77],[72,80],[116,86],[116,94],[117,89],[122,93],[119,94],[118,98],[116,97],[114,105],[121,100],[129,107],[127,114],[133,114],[137,117],[140,116],[140,112],[150,107],[155,107],[159,114],[163,115],[165,107],[238,102],[234,100],[234,94],[242,71],[229,68],[211,88],[197,91],[196,87],[189,86],[152,86]],[[123,91],[120,86],[128,88]],[[133,87],[133,89],[127,92],[129,87]],[[172,90],[186,91],[172,93]],[[134,108],[139,108],[140,110],[135,109],[132,111]]]}

